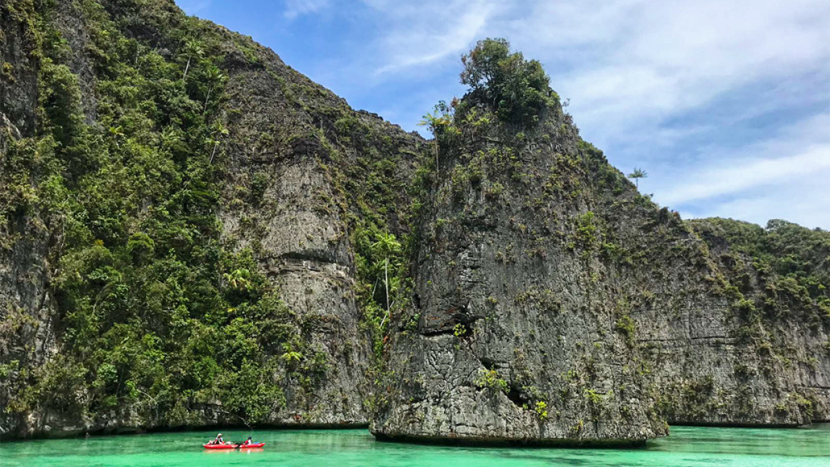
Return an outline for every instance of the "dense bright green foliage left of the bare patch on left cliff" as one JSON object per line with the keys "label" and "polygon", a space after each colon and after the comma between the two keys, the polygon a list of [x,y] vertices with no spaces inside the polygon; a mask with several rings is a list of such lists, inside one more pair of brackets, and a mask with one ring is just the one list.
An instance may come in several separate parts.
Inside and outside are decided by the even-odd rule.
{"label": "dense bright green foliage left of the bare patch on left cliff", "polygon": [[[61,33],[67,7],[90,34],[92,94],[70,69],[80,51]],[[35,38],[40,92],[37,131],[2,160],[0,239],[12,248],[15,225],[42,221],[62,343],[43,367],[4,362],[18,372],[7,411],[81,421],[134,406],[175,425],[221,401],[261,420],[284,400],[281,345],[305,349],[276,290],[256,272],[237,277],[256,271],[250,252],[219,241],[222,39],[168,2],[119,8],[114,22],[99,2],[2,6]],[[164,32],[158,46],[125,35],[145,21]]]}

